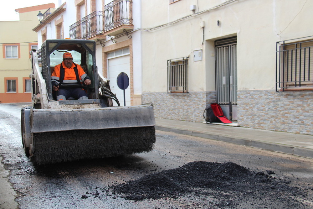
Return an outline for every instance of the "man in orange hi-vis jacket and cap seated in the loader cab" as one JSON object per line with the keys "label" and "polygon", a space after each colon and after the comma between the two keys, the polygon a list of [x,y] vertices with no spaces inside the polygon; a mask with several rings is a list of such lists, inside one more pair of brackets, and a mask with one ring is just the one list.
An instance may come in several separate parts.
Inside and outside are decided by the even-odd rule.
{"label": "man in orange hi-vis jacket and cap seated in the loader cab", "polygon": [[51,84],[54,91],[58,91],[57,100],[66,100],[69,97],[75,99],[88,99],[86,91],[82,88],[82,84],[90,85],[90,77],[80,65],[73,62],[72,54],[65,52],[63,54],[63,62],[54,67],[51,75]]}

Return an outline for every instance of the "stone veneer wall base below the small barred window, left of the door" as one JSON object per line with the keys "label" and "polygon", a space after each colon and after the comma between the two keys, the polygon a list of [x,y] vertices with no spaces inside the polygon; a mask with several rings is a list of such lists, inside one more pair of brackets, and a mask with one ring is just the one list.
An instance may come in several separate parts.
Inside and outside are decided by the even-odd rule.
{"label": "stone veneer wall base below the small barred window, left of the door", "polygon": [[148,102],[153,103],[156,118],[202,122],[206,104],[215,102],[215,91],[142,93],[142,103]]}

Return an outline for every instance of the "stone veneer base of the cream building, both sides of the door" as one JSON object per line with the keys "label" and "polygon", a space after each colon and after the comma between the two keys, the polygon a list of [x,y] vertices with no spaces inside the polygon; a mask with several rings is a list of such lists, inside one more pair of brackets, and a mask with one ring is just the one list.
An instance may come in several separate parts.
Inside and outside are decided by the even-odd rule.
{"label": "stone veneer base of the cream building, both sides of the door", "polygon": [[[313,135],[312,91],[238,91],[238,125],[272,131]],[[184,93],[146,92],[142,103],[152,102],[156,118],[202,122],[215,91]]]}

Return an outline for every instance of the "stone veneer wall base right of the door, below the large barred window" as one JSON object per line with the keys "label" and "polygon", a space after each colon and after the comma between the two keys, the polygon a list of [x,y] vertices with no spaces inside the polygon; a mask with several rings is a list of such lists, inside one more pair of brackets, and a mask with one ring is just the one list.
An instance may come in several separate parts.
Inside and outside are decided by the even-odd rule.
{"label": "stone veneer wall base right of the door, below the large barred window", "polygon": [[313,135],[313,92],[238,91],[238,124]]}

